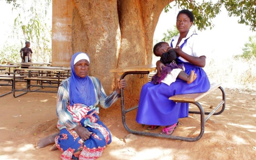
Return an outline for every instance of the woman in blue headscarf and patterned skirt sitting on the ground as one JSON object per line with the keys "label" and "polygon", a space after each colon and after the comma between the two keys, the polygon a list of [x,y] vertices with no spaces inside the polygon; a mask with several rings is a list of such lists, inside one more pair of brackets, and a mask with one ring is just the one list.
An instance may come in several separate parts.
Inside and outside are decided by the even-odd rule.
{"label": "woman in blue headscarf and patterned skirt sitting on the ground", "polygon": [[61,82],[57,93],[57,128],[54,133],[37,142],[36,148],[54,143],[63,153],[61,159],[94,160],[111,143],[111,133],[99,120],[99,107],[110,107],[120,97],[120,88],[126,88],[125,79],[108,97],[101,82],[88,76],[90,59],[86,53],[75,53],[71,58],[71,77]]}

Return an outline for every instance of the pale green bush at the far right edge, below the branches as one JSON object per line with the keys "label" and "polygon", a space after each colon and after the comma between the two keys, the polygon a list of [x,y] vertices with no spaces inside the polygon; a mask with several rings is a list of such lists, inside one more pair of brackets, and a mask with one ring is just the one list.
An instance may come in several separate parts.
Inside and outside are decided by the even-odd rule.
{"label": "pale green bush at the far right edge, below the branches", "polygon": [[256,35],[249,37],[249,42],[244,44],[243,54],[236,55],[235,58],[243,58],[246,60],[256,58]]}

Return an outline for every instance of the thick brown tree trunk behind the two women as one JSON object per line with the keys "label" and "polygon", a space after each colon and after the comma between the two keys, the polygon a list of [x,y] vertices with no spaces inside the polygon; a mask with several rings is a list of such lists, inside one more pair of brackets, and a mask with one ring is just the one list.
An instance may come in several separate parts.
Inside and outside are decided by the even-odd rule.
{"label": "thick brown tree trunk behind the two women", "polygon": [[[53,10],[58,7],[54,1],[57,0],[53,0]],[[118,73],[109,70],[152,63],[155,27],[162,10],[172,1],[73,0],[72,51],[89,54],[90,75],[101,80],[107,94],[115,89],[119,78]],[[53,56],[53,63],[55,60],[58,59]],[[141,87],[148,81],[147,76],[139,77],[125,77],[129,105],[138,104]]]}

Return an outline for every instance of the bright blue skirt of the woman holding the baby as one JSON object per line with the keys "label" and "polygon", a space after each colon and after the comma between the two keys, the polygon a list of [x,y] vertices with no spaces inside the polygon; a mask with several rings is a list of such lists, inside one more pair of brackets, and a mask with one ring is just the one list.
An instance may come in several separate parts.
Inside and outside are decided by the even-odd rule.
{"label": "bright blue skirt of the woman holding the baby", "polygon": [[189,103],[175,103],[168,98],[176,94],[202,93],[209,90],[209,79],[201,67],[182,61],[177,63],[184,64],[188,75],[194,70],[197,78],[190,84],[177,78],[170,86],[165,83],[146,83],[141,89],[136,117],[138,123],[158,126],[177,123],[179,118],[189,116]]}

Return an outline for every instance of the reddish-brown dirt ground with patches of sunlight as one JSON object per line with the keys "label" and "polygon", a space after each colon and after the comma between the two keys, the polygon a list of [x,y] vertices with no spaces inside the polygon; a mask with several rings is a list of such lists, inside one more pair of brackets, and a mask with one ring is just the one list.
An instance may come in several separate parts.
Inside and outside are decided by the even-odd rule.
{"label": "reddish-brown dirt ground with patches of sunlight", "polygon": [[[0,87],[0,93],[9,89]],[[122,124],[119,100],[114,106],[101,109],[100,117],[111,130],[112,143],[99,160],[254,160],[256,94],[230,89],[225,92],[225,111],[207,121],[205,133],[195,142],[128,133]],[[49,151],[51,145],[40,150],[34,148],[37,140],[57,131],[56,94],[33,92],[17,98],[12,94],[0,97],[0,160],[60,159],[61,151]],[[216,90],[200,102],[207,111],[212,110],[220,98],[220,91]],[[196,107],[191,106],[193,109]],[[128,127],[146,130],[148,126],[136,123],[135,116],[136,111],[127,114]],[[179,122],[173,135],[196,137],[199,134],[199,115],[189,114]]]}

